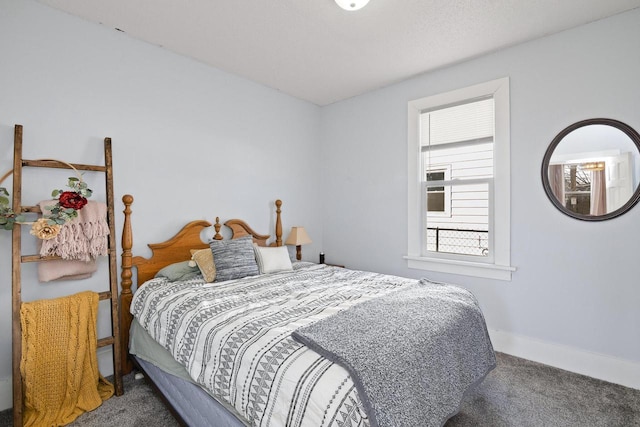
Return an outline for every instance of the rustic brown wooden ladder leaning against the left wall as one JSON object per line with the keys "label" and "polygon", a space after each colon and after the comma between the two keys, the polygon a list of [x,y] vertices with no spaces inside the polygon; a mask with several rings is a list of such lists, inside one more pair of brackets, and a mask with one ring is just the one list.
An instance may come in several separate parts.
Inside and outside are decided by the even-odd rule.
{"label": "rustic brown wooden ladder leaning against the left wall", "polygon": [[[22,206],[22,168],[24,166],[40,168],[58,168],[95,171],[105,173],[107,198],[107,223],[109,224],[108,257],[109,257],[109,290],[100,292],[100,300],[111,302],[111,330],[112,335],[98,340],[98,347],[113,346],[113,374],[115,394],[120,396],[122,386],[122,366],[120,359],[120,317],[118,314],[118,281],[116,276],[116,240],[115,220],[113,211],[113,165],[111,157],[111,138],[104,139],[104,166],[67,164],[56,160],[25,160],[22,158],[22,126],[15,125],[13,146],[13,210],[16,213],[41,213],[39,206]],[[71,166],[71,167],[70,167]],[[21,297],[21,264],[25,262],[45,262],[59,257],[42,257],[40,255],[22,255],[22,236],[20,225],[13,227],[12,253],[12,340],[13,340],[13,425],[23,425],[23,384],[20,373],[20,359],[22,357],[22,327],[20,323]]]}

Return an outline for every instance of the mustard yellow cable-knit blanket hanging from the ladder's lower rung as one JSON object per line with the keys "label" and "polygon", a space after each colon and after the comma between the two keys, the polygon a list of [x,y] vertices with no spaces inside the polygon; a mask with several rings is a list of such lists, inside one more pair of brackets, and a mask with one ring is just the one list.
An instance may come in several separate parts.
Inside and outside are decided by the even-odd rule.
{"label": "mustard yellow cable-knit blanket hanging from the ladder's lower rung", "polygon": [[25,426],[63,426],[113,395],[98,371],[98,294],[23,303],[22,373]]}

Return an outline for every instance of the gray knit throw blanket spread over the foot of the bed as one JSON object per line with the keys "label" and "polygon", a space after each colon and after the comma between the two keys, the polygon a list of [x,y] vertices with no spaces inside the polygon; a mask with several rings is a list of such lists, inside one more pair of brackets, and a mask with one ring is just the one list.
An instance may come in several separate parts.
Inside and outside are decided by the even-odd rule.
{"label": "gray knit throw blanket spread over the foot of the bed", "polygon": [[349,371],[372,427],[442,426],[496,366],[473,294],[426,279],[293,337]]}

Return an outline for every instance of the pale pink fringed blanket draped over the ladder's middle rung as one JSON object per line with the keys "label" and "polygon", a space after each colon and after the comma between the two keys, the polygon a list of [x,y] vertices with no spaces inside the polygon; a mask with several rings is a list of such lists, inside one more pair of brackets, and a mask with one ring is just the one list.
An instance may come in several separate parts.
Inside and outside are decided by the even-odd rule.
{"label": "pale pink fringed blanket draped over the ladder's middle rung", "polygon": [[[55,200],[40,202],[46,214]],[[78,211],[78,217],[64,224],[60,234],[42,240],[41,256],[60,256],[63,261],[38,263],[38,277],[43,282],[58,279],[84,279],[96,271],[95,259],[108,253],[109,225],[107,205],[89,201]]]}

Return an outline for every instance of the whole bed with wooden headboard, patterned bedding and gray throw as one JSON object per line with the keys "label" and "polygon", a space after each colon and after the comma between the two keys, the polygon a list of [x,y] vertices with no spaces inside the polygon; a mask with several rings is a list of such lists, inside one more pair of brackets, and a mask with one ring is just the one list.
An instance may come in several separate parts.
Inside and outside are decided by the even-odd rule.
{"label": "whole bed with wooden headboard, patterned bedding and gray throw", "polygon": [[[123,201],[123,366],[183,425],[441,426],[495,367],[471,293],[292,260],[279,200],[272,243],[238,219],[225,240],[216,218],[149,244],[150,258],[131,253]],[[198,250],[213,254],[215,281],[199,263],[182,275]]]}

